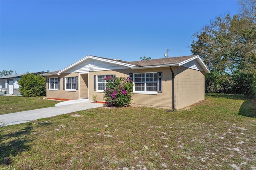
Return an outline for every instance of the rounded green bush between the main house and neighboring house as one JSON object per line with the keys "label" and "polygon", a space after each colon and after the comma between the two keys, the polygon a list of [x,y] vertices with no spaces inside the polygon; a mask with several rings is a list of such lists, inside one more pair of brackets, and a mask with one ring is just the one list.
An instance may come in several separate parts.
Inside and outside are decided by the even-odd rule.
{"label": "rounded green bush between the main house and neighboring house", "polygon": [[46,94],[45,77],[41,75],[26,73],[18,80],[18,85],[24,97],[45,96]]}

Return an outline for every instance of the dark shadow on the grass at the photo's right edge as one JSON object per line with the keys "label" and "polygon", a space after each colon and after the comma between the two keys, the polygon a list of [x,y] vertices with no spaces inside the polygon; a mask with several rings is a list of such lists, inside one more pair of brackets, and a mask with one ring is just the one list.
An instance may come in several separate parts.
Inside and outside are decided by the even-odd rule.
{"label": "dark shadow on the grass at the photo's right edge", "polygon": [[256,118],[256,101],[245,99],[239,109],[238,115]]}

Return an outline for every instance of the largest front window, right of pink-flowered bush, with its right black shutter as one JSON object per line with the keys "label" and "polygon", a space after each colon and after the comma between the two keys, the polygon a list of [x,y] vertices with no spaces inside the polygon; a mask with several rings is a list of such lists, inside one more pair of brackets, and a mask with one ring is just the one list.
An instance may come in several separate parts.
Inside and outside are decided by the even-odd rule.
{"label": "largest front window, right of pink-flowered bush, with its right black shutter", "polygon": [[162,72],[134,73],[134,84],[135,93],[162,92]]}

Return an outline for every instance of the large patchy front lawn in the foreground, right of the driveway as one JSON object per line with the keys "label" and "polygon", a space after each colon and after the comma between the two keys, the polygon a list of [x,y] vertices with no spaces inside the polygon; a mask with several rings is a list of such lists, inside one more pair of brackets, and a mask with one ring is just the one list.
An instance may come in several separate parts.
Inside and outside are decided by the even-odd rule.
{"label": "large patchy front lawn in the foreground, right of the driveway", "polygon": [[253,104],[211,94],[172,113],[103,107],[2,127],[0,168],[254,170]]}

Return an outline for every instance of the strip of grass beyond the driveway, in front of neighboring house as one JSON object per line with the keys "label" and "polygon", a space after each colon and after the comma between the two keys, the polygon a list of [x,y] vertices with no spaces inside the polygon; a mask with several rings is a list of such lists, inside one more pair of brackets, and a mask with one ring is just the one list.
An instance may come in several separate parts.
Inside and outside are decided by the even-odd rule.
{"label": "strip of grass beyond the driveway, in front of neighboring house", "polygon": [[0,115],[53,107],[59,102],[46,100],[43,97],[0,96]]}

